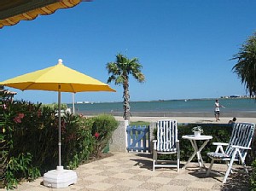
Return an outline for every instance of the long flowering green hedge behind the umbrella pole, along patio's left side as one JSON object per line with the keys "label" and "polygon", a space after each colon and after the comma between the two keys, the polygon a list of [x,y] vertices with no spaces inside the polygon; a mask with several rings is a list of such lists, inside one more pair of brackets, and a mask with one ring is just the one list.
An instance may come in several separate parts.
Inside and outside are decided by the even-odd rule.
{"label": "long flowering green hedge behind the umbrella pole, along patio's left side", "polygon": [[[29,101],[1,100],[0,187],[15,188],[22,179],[33,180],[58,165],[58,116],[55,106]],[[74,169],[91,156],[101,155],[118,122],[109,115],[85,119],[61,117],[61,165]],[[98,136],[96,136],[98,135]]]}

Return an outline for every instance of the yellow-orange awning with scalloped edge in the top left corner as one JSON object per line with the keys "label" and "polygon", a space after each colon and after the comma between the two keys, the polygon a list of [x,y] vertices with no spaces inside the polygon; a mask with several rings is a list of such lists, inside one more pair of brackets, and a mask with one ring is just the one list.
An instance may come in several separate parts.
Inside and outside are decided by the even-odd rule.
{"label": "yellow-orange awning with scalloped edge in the top left corner", "polygon": [[84,0],[1,0],[0,28],[13,26],[20,20],[34,20],[38,15],[53,14],[57,9],[72,8],[82,1]]}

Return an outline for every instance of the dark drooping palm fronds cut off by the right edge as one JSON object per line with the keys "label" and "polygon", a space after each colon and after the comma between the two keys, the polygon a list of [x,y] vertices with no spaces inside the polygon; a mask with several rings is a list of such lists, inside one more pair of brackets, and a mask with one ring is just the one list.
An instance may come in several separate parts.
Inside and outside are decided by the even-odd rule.
{"label": "dark drooping palm fronds cut off by the right edge", "polygon": [[237,60],[232,68],[241,78],[250,96],[256,95],[256,33],[241,45],[239,52],[231,60]]}

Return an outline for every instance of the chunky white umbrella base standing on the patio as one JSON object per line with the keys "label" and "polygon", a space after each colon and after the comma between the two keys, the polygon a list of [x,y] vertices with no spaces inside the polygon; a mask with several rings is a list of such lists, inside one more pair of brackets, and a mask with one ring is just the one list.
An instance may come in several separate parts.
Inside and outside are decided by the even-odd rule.
{"label": "chunky white umbrella base standing on the patio", "polygon": [[57,166],[56,170],[44,173],[44,186],[51,188],[67,188],[78,180],[77,173],[72,170],[64,170],[63,166]]}

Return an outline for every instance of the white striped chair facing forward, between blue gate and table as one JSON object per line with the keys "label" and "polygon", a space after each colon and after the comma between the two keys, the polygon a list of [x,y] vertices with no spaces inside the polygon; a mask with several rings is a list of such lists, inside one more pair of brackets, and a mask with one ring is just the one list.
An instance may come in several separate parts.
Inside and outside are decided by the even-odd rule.
{"label": "white striped chair facing forward, between blue gate and table", "polygon": [[[153,171],[155,167],[177,167],[179,171],[179,141],[177,139],[177,121],[166,119],[157,122],[157,140],[153,141]],[[177,154],[177,164],[170,164],[172,160],[160,160],[157,154]]]}

